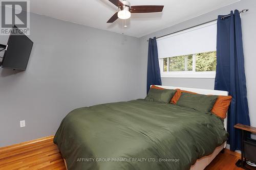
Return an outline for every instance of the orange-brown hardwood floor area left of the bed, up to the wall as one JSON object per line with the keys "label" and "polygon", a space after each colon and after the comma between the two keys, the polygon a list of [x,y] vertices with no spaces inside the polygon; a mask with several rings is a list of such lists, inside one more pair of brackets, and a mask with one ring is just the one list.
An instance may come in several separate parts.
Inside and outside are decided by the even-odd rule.
{"label": "orange-brown hardwood floor area left of the bed, up to the wall", "polygon": [[66,169],[53,138],[23,147],[0,149],[0,169]]}

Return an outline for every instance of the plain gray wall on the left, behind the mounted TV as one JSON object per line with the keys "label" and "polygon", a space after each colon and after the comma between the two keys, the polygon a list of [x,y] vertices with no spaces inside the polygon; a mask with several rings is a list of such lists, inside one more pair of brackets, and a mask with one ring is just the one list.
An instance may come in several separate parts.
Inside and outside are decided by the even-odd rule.
{"label": "plain gray wall on the left, behind the mounted TV", "polygon": [[[144,95],[138,38],[36,14],[29,37],[27,70],[0,69],[0,147],[54,135],[75,108]],[[0,43],[7,40],[0,36]]]}

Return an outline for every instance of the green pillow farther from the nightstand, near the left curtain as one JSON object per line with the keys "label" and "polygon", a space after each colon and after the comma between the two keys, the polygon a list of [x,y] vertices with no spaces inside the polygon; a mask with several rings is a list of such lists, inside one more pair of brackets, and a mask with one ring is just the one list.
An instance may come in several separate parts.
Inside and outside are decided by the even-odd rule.
{"label": "green pillow farther from the nightstand, near the left curtain", "polygon": [[176,90],[151,88],[148,91],[145,101],[169,103],[175,93]]}

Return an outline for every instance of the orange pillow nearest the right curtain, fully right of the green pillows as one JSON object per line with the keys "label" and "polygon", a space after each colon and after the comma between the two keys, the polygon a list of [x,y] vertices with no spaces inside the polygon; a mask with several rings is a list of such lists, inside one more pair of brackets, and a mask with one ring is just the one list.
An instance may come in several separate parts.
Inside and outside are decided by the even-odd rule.
{"label": "orange pillow nearest the right curtain, fully right of the green pillows", "polygon": [[219,95],[219,98],[216,100],[214,107],[211,109],[211,112],[225,119],[227,117],[226,113],[231,100],[232,100],[232,96],[230,95],[228,96]]}

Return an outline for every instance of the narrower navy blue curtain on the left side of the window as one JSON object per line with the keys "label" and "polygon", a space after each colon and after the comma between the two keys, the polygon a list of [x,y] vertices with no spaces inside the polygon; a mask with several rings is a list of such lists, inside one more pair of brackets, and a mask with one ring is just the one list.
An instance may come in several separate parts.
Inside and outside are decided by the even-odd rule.
{"label": "narrower navy blue curtain on the left side of the window", "polygon": [[148,40],[148,58],[147,58],[147,93],[151,85],[162,85],[160,68],[158,61],[157,40],[156,37]]}

